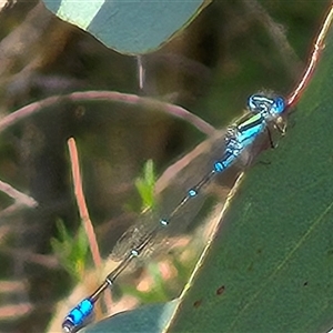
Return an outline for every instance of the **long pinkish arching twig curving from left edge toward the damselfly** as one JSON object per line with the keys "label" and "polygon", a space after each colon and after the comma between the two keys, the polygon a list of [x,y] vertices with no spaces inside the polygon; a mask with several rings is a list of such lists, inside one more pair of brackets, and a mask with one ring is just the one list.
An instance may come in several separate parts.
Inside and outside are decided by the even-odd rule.
{"label": "long pinkish arching twig curving from left edge toward the damselfly", "polygon": [[28,104],[8,114],[0,121],[0,133],[4,131],[7,128],[17,123],[18,121],[33,113],[40,112],[47,107],[50,107],[57,102],[64,101],[64,100],[69,100],[72,102],[98,100],[98,101],[113,101],[113,102],[121,102],[127,104],[143,105],[145,108],[158,109],[169,114],[172,114],[174,117],[181,118],[190,122],[199,131],[205,133],[206,135],[211,135],[215,131],[215,129],[211,124],[209,124],[198,115],[192,114],[190,111],[179,105],[165,103],[151,98],[139,97],[137,94],[122,93],[117,91],[93,91],[92,90],[92,91],[83,91],[83,92],[78,91],[65,95],[49,97],[44,100]]}

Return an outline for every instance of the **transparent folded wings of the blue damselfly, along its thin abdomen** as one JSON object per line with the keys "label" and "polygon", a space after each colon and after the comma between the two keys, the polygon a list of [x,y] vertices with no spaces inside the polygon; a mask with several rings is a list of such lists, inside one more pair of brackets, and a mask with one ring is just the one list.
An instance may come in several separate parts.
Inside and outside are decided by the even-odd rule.
{"label": "transparent folded wings of the blue damselfly, along its thin abdomen", "polygon": [[[159,209],[142,214],[134,225],[121,236],[112,251],[111,258],[113,260],[121,260],[131,249],[140,245],[143,236],[160,223],[160,219],[168,219],[170,212],[186,195],[188,190],[210,173],[214,161],[223,155],[225,149],[224,135],[225,131],[216,131],[212,138],[199,144],[193,151],[165,170],[155,185]],[[196,198],[190,199],[179,210],[170,225],[161,228],[149,248],[155,248],[155,244],[164,243],[165,238],[178,235],[184,232],[194,221],[201,220],[205,214],[202,208],[208,198],[214,196],[220,202],[224,201],[241,170],[240,165],[232,165],[230,170],[213,180],[214,184],[219,184],[220,191],[218,192],[220,193],[218,195],[216,191],[211,190],[212,188],[216,189],[215,185],[204,186]],[[214,192],[214,195],[210,195],[212,192]],[[209,211],[209,206],[205,208],[205,211]]]}

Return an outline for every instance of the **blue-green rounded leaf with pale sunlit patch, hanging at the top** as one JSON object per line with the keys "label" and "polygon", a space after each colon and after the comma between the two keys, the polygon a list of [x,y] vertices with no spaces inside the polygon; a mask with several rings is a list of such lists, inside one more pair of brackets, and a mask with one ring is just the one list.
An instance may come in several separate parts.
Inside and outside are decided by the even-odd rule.
{"label": "blue-green rounded leaf with pale sunlit patch, hanging at the top", "polygon": [[158,49],[206,3],[191,1],[44,0],[60,19],[90,32],[108,48],[142,54]]}

